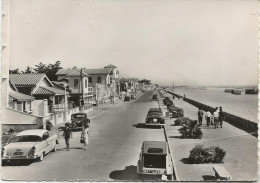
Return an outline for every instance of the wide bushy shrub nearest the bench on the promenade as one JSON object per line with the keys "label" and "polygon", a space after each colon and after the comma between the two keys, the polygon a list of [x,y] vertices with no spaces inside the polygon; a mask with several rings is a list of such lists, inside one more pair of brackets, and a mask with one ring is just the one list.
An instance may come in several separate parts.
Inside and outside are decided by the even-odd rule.
{"label": "wide bushy shrub nearest the bench on the promenade", "polygon": [[218,147],[211,146],[204,148],[203,145],[196,145],[189,155],[189,161],[191,163],[221,163],[226,155],[226,152]]}

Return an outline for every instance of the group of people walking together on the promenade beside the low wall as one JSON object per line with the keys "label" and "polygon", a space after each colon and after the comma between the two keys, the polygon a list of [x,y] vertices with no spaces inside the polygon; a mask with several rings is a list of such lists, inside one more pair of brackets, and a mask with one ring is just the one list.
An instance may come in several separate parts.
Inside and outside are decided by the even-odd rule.
{"label": "group of people walking together on the promenade beside the low wall", "polygon": [[[199,121],[199,126],[202,125],[203,121],[203,116],[204,113],[201,109],[198,111],[198,121]],[[222,111],[222,107],[216,107],[214,112],[211,113],[209,111],[206,112],[205,114],[205,119],[207,122],[207,126],[209,127],[210,125],[214,125],[215,128],[222,128],[223,126],[223,121],[225,120],[224,112]]]}

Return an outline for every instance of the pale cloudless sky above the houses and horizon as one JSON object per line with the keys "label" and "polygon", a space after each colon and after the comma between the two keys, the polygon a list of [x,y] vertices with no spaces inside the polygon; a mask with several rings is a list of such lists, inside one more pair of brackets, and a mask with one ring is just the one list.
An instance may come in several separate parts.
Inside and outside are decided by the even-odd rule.
{"label": "pale cloudless sky above the houses and horizon", "polygon": [[257,85],[256,0],[10,0],[10,69],[117,66],[160,85]]}

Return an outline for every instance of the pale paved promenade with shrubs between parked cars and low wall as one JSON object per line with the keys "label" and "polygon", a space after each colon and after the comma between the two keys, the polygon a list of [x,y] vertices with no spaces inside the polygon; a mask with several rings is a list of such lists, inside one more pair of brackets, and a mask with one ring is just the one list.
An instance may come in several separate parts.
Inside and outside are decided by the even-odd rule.
{"label": "pale paved promenade with shrubs between parked cars and low wall", "polygon": [[[172,98],[170,94],[164,95]],[[159,100],[162,99],[159,98]],[[174,99],[174,104],[183,108],[185,117],[197,119],[198,109],[196,107],[181,99]],[[161,101],[160,105],[163,111],[167,110]],[[202,139],[180,139],[178,132],[180,126],[173,126],[174,120],[166,120],[165,129],[179,181],[206,181],[215,178],[214,164],[187,164],[185,162],[186,158],[189,157],[189,151],[197,144],[205,147],[220,146],[226,151],[224,163],[216,165],[225,167],[232,175],[232,181],[256,180],[258,170],[257,138],[225,122],[223,128],[207,127],[205,119],[203,119]]]}

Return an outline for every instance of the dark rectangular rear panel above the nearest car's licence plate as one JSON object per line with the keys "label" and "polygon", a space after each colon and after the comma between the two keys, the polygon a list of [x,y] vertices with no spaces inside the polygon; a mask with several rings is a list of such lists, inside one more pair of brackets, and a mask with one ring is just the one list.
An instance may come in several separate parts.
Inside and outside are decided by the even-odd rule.
{"label": "dark rectangular rear panel above the nearest car's licence plate", "polygon": [[145,154],[145,168],[166,168],[166,155]]}

